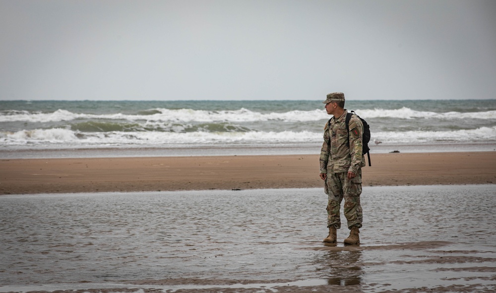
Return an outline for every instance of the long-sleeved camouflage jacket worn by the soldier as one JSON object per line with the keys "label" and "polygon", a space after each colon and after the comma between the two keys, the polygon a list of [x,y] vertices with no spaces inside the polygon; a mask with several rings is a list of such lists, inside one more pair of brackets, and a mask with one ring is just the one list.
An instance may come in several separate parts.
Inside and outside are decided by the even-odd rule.
{"label": "long-sleeved camouflage jacket worn by the soldier", "polygon": [[[365,166],[362,154],[362,134],[364,126],[357,116],[351,116],[350,144],[348,146],[348,130],[346,129],[345,109],[339,118],[332,117],[324,127],[324,143],[320,150],[320,173],[353,172]],[[330,139],[329,139],[330,138]]]}

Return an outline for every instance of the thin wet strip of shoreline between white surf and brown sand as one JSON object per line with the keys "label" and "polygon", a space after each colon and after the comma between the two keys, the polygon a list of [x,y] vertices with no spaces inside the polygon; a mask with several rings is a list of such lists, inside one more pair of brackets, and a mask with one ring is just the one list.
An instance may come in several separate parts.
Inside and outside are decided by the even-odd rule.
{"label": "thin wet strip of shoreline between white surf and brown sand", "polygon": [[[2,148],[0,159],[56,159],[56,158],[108,158],[108,157],[187,157],[232,155],[299,155],[318,154],[319,144],[285,145],[222,145],[222,146],[148,146],[148,147],[78,147],[78,148]],[[372,145],[372,154],[434,153],[434,152],[491,152],[492,143],[438,143],[423,145]]]}

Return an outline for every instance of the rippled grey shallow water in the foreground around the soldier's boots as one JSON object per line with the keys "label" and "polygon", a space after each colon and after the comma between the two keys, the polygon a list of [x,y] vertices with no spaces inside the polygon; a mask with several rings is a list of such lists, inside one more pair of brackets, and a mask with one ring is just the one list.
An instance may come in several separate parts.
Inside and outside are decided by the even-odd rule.
{"label": "rippled grey shallow water in the foreground around the soldier's boots", "polygon": [[364,187],[352,246],[345,223],[340,243],[321,242],[326,201],[321,189],[1,196],[0,292],[496,290],[495,185]]}

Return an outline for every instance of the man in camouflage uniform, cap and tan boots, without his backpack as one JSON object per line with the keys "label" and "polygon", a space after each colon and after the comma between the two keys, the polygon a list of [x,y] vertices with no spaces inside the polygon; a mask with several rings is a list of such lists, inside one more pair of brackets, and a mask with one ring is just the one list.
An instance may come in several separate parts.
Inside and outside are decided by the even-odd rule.
{"label": "man in camouflage uniform, cap and tan boots, without his backpack", "polygon": [[349,128],[346,128],[346,115],[343,93],[331,93],[325,101],[327,114],[333,115],[324,127],[324,143],[320,150],[320,178],[324,180],[327,201],[327,228],[329,235],[323,240],[336,243],[336,229],[341,228],[340,206],[344,198],[344,215],[348,221],[350,236],[345,244],[359,244],[359,228],[362,227],[362,167],[365,157],[362,154],[363,124],[360,118],[352,115]]}

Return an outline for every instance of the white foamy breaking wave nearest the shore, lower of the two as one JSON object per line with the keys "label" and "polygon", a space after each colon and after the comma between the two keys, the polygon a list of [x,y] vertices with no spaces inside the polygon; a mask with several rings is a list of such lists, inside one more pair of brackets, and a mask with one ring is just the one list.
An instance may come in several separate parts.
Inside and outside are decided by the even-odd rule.
{"label": "white foamy breaking wave nearest the shore, lower of the two", "polygon": [[[496,143],[496,127],[481,127],[455,131],[374,132],[371,145],[378,140],[384,144],[422,144],[435,142]],[[320,144],[322,134],[310,131],[110,131],[81,132],[62,128],[0,132],[4,146],[73,144],[78,146],[167,146],[202,144]]]}

